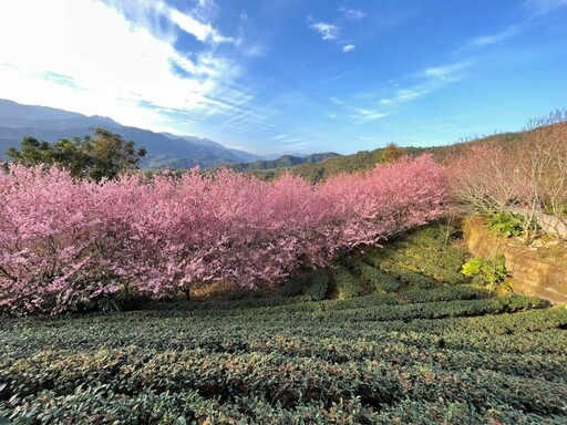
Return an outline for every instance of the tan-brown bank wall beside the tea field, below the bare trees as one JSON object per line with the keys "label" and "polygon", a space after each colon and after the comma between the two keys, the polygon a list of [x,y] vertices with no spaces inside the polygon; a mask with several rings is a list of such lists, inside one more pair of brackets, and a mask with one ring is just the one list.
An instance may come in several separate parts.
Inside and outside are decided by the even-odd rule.
{"label": "tan-brown bank wall beside the tea field, below the bare trees", "polygon": [[480,217],[464,222],[464,238],[468,250],[477,257],[503,253],[512,273],[514,291],[536,296],[553,303],[567,303],[567,247],[565,242],[523,246],[520,242],[496,237],[483,226]]}

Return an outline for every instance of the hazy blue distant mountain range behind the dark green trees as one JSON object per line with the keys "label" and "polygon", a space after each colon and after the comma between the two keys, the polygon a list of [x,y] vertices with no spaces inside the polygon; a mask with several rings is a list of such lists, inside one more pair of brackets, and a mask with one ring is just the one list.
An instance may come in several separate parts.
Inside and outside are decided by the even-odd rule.
{"label": "hazy blue distant mountain range behind the dark green trees", "polygon": [[[60,138],[83,137],[86,134],[92,134],[95,127],[103,127],[121,134],[124,139],[135,142],[138,147],[144,146],[147,155],[141,163],[143,168],[190,168],[194,166],[209,168],[268,158],[231,149],[207,138],[155,133],[125,126],[104,116],[86,116],[53,107],[22,105],[0,100],[0,159],[6,159],[4,153],[8,147],[18,148],[24,136],[56,142]],[[288,159],[281,159],[281,162],[286,160]],[[312,158],[306,160],[311,162]]]}

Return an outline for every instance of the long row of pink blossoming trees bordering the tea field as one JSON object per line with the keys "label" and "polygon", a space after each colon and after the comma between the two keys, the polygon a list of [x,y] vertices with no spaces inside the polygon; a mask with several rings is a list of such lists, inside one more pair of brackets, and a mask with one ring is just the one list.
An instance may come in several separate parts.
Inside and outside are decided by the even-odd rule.
{"label": "long row of pink blossoming trees bordering the tea field", "polygon": [[228,169],[96,184],[13,165],[0,174],[0,309],[56,313],[121,290],[275,282],[436,218],[445,186],[429,156],[319,185]]}

